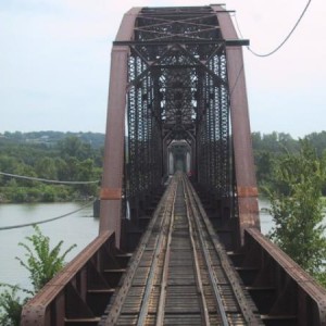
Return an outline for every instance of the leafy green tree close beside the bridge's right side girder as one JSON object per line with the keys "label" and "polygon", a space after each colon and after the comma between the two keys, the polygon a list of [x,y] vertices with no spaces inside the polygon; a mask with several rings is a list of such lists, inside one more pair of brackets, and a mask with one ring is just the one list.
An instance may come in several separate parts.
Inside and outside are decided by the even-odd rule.
{"label": "leafy green tree close beside the bridge's right side girder", "polygon": [[287,152],[277,161],[274,189],[267,191],[275,222],[269,234],[272,240],[319,278],[324,277],[326,262],[321,198],[325,176],[325,160],[317,158],[306,139],[300,140],[298,153]]}

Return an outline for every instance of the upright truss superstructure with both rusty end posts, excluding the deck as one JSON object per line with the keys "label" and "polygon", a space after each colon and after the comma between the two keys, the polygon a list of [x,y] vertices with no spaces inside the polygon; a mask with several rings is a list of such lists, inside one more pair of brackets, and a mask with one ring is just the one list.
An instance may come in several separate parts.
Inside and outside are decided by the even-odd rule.
{"label": "upright truss superstructure with both rusty end posts, excluding the deck", "polygon": [[252,152],[239,140],[250,138],[242,72],[229,89],[239,74],[233,49],[246,41],[224,36],[225,16],[220,7],[143,8],[123,20],[112,50],[100,223],[117,241],[122,196],[133,209],[162,183],[173,140],[189,143],[196,177],[215,198],[231,206],[239,195],[240,228],[259,226],[254,202],[247,205],[247,195],[256,199]]}

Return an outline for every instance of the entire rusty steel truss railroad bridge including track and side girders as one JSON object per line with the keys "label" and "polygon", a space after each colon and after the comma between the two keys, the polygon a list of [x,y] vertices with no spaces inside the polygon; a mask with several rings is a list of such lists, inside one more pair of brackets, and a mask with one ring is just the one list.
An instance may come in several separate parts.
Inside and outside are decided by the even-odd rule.
{"label": "entire rusty steel truss railroad bridge including track and side girders", "polygon": [[246,45],[222,5],[124,15],[99,236],[22,325],[326,325],[325,289],[260,233]]}

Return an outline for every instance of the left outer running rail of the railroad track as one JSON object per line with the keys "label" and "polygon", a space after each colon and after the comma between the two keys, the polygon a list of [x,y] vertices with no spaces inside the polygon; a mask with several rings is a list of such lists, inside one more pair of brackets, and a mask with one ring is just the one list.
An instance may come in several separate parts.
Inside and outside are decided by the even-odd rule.
{"label": "left outer running rail of the railroad track", "polygon": [[[175,203],[175,198],[176,198],[176,189],[177,189],[177,187],[174,187],[172,189],[173,192],[171,193],[171,196],[173,198],[172,198],[172,201],[170,201],[168,206],[172,205],[172,210],[171,211],[168,210],[167,213],[165,212],[165,215],[162,218],[163,220],[163,223],[162,223],[163,228],[162,228],[162,231],[160,233],[159,239],[156,241],[154,259],[151,263],[149,277],[148,277],[148,280],[146,284],[145,294],[143,294],[142,302],[141,302],[141,308],[140,308],[140,312],[139,312],[139,316],[138,316],[138,321],[137,321],[137,326],[145,325],[145,321],[148,315],[148,309],[149,309],[149,302],[150,302],[149,298],[150,298],[150,294],[152,291],[154,276],[158,274],[158,263],[159,263],[160,252],[162,252],[162,250],[164,250],[164,248],[162,248],[163,246],[166,248],[167,242],[168,242],[168,239],[166,239],[166,238],[168,238],[168,236],[171,235],[171,233],[173,230],[174,203]],[[168,235],[166,235],[166,233],[164,231],[167,227],[168,227]],[[166,254],[166,252],[165,252],[165,254]],[[164,263],[165,263],[165,260],[164,260]],[[167,261],[167,264],[168,264],[168,261]],[[164,268],[164,266],[163,266],[163,268]],[[162,310],[160,313],[162,314]]]}

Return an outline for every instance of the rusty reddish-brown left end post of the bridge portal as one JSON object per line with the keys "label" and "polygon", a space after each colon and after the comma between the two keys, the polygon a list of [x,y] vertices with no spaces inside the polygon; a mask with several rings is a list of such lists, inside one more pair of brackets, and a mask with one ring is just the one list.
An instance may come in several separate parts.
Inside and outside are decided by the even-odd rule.
{"label": "rusty reddish-brown left end post of the bridge portal", "polygon": [[[138,12],[139,9],[131,9],[125,14],[116,40],[131,39]],[[128,47],[113,46],[112,48],[102,189],[123,187],[128,53]],[[100,233],[113,230],[117,248],[121,240],[121,198],[101,200]]]}

